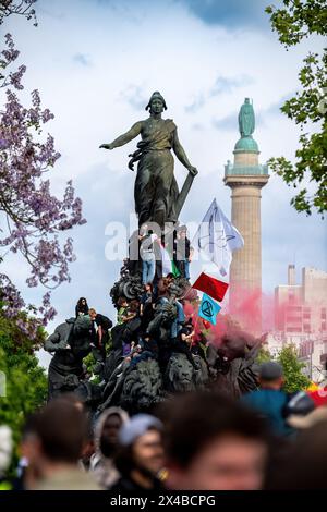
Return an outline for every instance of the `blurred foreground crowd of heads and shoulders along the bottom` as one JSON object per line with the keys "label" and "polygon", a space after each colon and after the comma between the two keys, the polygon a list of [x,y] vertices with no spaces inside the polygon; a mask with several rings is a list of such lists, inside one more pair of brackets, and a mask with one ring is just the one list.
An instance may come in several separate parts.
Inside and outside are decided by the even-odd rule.
{"label": "blurred foreground crowd of heads and shoulders along the bottom", "polygon": [[315,403],[300,392],[288,400],[282,368],[272,362],[262,365],[259,382],[239,400],[194,391],[132,417],[110,407],[92,419],[76,395],[63,394],[27,419],[13,479],[5,478],[10,430],[0,427],[0,486],[120,492],[324,488],[326,398]]}

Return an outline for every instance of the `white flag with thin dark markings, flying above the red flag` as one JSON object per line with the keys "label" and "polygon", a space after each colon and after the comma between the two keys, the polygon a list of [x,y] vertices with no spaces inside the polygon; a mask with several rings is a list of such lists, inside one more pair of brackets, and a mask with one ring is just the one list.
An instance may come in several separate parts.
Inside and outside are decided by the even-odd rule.
{"label": "white flag with thin dark markings, flying above the red flag", "polygon": [[192,241],[217,265],[221,276],[227,276],[232,260],[232,252],[242,248],[244,240],[222,210],[213,200]]}

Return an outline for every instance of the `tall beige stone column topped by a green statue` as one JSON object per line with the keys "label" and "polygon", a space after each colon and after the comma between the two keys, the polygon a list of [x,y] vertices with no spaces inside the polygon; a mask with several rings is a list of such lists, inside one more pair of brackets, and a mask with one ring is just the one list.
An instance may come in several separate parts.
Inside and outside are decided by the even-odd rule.
{"label": "tall beige stone column topped by a green statue", "polygon": [[233,252],[230,268],[229,308],[231,315],[254,334],[262,332],[262,225],[261,190],[269,180],[267,164],[258,162],[259,149],[253,103],[245,98],[239,113],[241,138],[233,150],[233,164],[225,166],[225,184],[232,191],[233,225],[244,239],[244,247]]}

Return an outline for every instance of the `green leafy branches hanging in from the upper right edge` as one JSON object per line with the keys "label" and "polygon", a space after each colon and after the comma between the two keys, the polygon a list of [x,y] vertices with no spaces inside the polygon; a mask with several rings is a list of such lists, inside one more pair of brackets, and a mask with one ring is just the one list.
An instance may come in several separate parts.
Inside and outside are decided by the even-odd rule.
{"label": "green leafy branches hanging in from the upper right edge", "polygon": [[[266,8],[272,31],[288,49],[310,36],[327,35],[326,0],[283,0],[283,7]],[[308,53],[299,73],[300,90],[281,111],[301,127],[293,164],[284,157],[271,158],[269,166],[290,186],[300,188],[291,204],[311,215],[327,209],[327,51]],[[310,132],[305,132],[305,130]],[[311,182],[314,192],[307,191]]]}

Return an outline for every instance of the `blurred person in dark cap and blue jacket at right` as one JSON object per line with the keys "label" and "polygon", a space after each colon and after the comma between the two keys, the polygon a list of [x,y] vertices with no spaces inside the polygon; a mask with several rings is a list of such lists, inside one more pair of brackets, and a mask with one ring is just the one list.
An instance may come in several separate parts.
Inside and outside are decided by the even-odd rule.
{"label": "blurred person in dark cap and blue jacket at right", "polygon": [[244,394],[242,402],[265,417],[275,435],[292,434],[284,418],[289,395],[282,390],[284,379],[281,365],[274,361],[263,363],[258,380],[259,389]]}

